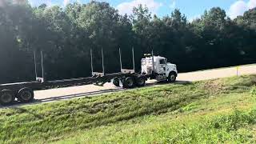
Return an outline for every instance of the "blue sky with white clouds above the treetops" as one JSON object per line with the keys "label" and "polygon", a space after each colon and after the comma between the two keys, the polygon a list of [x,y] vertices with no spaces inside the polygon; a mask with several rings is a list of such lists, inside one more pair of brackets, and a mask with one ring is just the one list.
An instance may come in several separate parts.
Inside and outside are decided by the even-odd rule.
{"label": "blue sky with white clouds above the treetops", "polygon": [[[120,14],[131,14],[134,6],[146,5],[152,14],[159,17],[170,15],[174,9],[181,10],[182,14],[191,21],[199,18],[205,10],[210,10],[214,6],[219,6],[226,10],[230,18],[242,15],[246,10],[256,7],[256,0],[98,0],[109,2],[111,6],[118,9]],[[90,0],[29,0],[32,6],[46,3],[48,6],[66,6],[68,3],[86,3]]]}

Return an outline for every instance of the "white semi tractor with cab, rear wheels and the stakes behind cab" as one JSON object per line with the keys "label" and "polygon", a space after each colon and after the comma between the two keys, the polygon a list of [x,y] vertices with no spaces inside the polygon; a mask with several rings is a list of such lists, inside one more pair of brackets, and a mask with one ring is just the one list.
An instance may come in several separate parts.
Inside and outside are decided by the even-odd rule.
{"label": "white semi tractor with cab, rear wheels and the stakes behind cab", "polygon": [[[134,51],[134,50],[133,50]],[[133,54],[134,55],[134,54]],[[141,60],[141,71],[138,78],[114,78],[114,86],[123,86],[131,88],[134,86],[144,86],[148,78],[155,79],[158,82],[175,82],[178,76],[177,66],[167,62],[167,58],[161,56],[154,56],[152,54],[145,54],[146,58]],[[122,60],[120,52],[121,71],[133,72],[135,70],[122,70]],[[135,73],[134,73],[135,74]]]}

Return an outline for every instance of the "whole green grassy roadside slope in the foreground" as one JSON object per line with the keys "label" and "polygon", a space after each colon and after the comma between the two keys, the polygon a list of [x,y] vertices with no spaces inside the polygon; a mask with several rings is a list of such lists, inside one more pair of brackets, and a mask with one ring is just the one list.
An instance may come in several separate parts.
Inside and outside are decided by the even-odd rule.
{"label": "whole green grassy roadside slope in the foreground", "polygon": [[0,110],[0,143],[256,142],[256,75]]}

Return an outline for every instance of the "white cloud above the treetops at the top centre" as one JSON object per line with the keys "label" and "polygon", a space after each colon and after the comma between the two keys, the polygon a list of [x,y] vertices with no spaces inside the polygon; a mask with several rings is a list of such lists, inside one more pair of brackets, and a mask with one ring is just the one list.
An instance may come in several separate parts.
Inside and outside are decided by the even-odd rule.
{"label": "white cloud above the treetops at the top centre", "polygon": [[155,2],[154,0],[133,0],[131,2],[122,2],[117,6],[119,14],[132,14],[134,7],[142,4],[147,6],[153,14],[156,14],[158,9],[162,6],[161,2]]}

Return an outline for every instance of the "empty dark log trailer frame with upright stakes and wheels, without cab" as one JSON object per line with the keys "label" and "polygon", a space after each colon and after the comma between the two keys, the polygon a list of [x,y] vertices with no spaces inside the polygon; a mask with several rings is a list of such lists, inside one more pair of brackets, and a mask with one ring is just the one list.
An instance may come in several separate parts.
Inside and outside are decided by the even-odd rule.
{"label": "empty dark log trailer frame with upright stakes and wheels, without cab", "polygon": [[0,104],[10,105],[14,102],[15,98],[19,102],[32,102],[34,100],[34,90],[48,90],[58,87],[69,87],[69,86],[83,86],[94,84],[97,86],[104,86],[106,82],[113,82],[114,86],[122,86],[123,88],[132,88],[134,86],[145,86],[146,76],[135,73],[134,66],[134,48],[132,49],[133,54],[133,70],[122,68],[122,51],[119,48],[119,61],[120,61],[120,72],[118,73],[105,73],[104,66],[104,54],[102,53],[102,72],[94,72],[93,66],[93,51],[90,50],[90,61],[91,61],[91,77],[87,78],[70,78],[54,81],[45,81],[44,78],[44,67],[43,67],[43,53],[41,54],[41,69],[42,77],[38,77],[37,64],[36,64],[36,53],[34,52],[34,71],[35,81],[30,82],[16,82],[6,83],[0,85]]}

